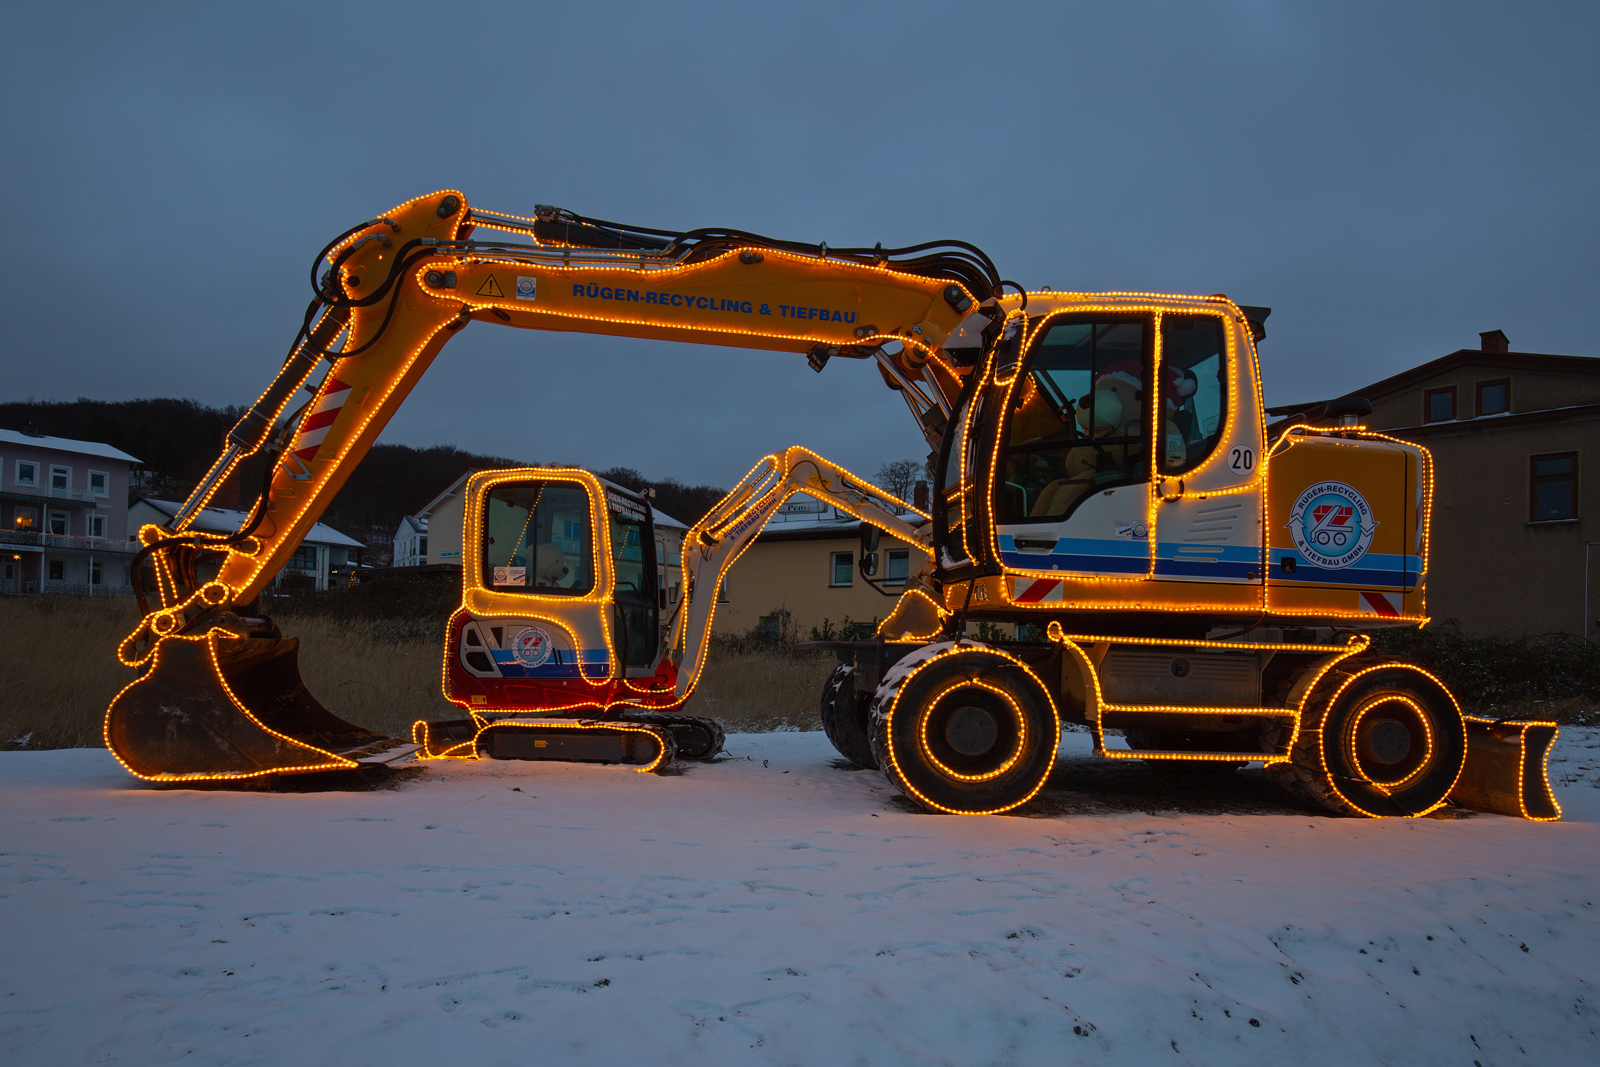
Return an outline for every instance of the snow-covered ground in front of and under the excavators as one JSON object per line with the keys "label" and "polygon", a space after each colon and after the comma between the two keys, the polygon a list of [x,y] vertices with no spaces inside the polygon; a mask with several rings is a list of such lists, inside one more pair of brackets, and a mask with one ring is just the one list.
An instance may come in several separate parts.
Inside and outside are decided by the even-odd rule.
{"label": "snow-covered ground in front of and under the excavators", "polygon": [[821,734],[728,753],[275,793],[0,753],[0,1062],[1600,1062],[1600,731],[1557,824],[1325,817],[1083,734],[978,819]]}

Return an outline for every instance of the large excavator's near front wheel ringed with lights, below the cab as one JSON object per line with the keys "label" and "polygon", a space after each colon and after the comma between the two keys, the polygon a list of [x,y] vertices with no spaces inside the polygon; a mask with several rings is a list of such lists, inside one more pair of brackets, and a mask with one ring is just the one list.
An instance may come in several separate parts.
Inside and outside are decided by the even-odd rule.
{"label": "large excavator's near front wheel ringed with lights, below the cab", "polygon": [[1038,680],[981,645],[926,645],[872,697],[872,753],[914,803],[997,814],[1027,803],[1050,776],[1061,721]]}

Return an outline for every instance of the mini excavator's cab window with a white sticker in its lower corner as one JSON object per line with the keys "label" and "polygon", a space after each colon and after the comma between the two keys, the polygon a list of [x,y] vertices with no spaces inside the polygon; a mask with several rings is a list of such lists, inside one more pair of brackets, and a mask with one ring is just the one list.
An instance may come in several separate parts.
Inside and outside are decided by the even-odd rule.
{"label": "mini excavator's cab window with a white sticker in its lower corner", "polygon": [[483,585],[494,592],[578,597],[594,590],[589,493],[571,482],[518,482],[490,491]]}

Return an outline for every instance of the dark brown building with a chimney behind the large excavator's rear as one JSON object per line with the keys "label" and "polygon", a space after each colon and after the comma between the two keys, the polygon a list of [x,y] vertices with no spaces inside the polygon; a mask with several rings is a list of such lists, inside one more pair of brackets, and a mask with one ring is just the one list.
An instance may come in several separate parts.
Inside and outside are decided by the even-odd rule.
{"label": "dark brown building with a chimney behind the large excavator's rear", "polygon": [[[1427,611],[1467,633],[1600,635],[1600,358],[1499,330],[1347,395],[1434,454]],[[1270,414],[1331,424],[1323,403]]]}

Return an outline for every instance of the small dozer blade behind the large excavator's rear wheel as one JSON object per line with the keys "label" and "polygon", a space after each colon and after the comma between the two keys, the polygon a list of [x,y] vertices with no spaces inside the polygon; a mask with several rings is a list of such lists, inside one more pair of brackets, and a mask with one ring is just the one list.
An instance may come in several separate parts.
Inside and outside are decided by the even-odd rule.
{"label": "small dozer blade behind the large excavator's rear wheel", "polygon": [[1467,717],[1467,765],[1450,798],[1462,808],[1520,819],[1560,819],[1546,768],[1558,731],[1555,723]]}

